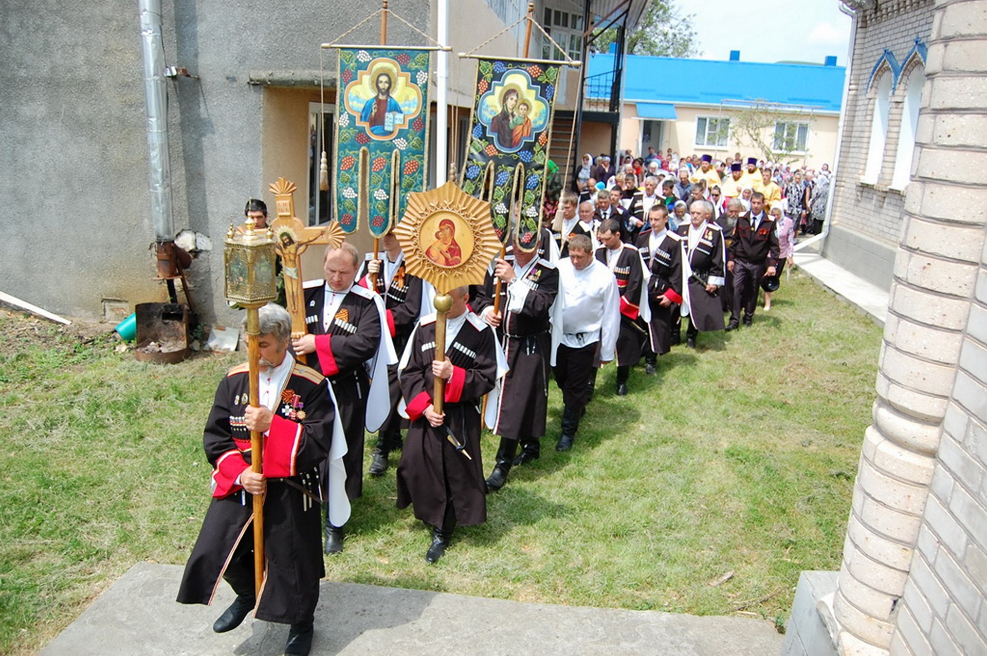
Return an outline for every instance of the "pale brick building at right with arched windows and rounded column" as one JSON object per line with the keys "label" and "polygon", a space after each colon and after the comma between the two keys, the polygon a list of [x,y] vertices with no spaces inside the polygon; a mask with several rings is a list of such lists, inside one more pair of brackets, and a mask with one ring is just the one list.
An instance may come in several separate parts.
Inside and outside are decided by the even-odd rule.
{"label": "pale brick building at right with arched windows and rounded column", "polygon": [[987,1],[842,1],[856,114],[826,253],[895,246],[843,563],[829,589],[803,575],[785,654],[984,654]]}

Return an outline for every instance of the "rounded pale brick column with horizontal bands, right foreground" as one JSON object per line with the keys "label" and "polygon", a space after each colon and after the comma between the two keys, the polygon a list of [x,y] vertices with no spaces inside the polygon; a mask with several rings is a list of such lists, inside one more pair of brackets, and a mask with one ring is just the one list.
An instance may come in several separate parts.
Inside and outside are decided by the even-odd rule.
{"label": "rounded pale brick column with horizontal bands, right foreground", "polygon": [[833,599],[847,655],[891,645],[984,247],[987,0],[938,0],[934,11],[873,424]]}

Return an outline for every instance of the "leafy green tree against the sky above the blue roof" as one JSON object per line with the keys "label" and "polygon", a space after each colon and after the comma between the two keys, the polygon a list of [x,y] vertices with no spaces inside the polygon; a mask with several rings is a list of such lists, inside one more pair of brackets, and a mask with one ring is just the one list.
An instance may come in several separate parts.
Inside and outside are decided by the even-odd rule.
{"label": "leafy green tree against the sky above the blue roof", "polygon": [[[627,35],[628,54],[689,57],[696,54],[695,14],[684,14],[674,0],[651,0],[638,27]],[[606,51],[617,40],[616,28],[599,36],[595,44]]]}

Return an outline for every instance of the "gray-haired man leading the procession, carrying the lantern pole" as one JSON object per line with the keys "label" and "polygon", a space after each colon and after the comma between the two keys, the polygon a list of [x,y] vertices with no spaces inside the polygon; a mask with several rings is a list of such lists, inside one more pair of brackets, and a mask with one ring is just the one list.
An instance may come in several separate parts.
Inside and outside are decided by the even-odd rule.
{"label": "gray-haired man leading the procession, carrying the lantern pole", "polygon": [[[254,610],[258,620],[291,624],[285,654],[308,654],[319,602],[322,556],[319,469],[342,428],[326,378],[288,351],[291,318],[268,303],[259,310],[260,406],[250,404],[248,365],[219,382],[203,446],[212,466],[212,502],[186,564],[178,601],[210,604],[222,576],[236,601],[212,625],[232,630]],[[251,470],[251,431],[263,432],[263,472]],[[265,497],[267,575],[254,590],[251,495]]]}

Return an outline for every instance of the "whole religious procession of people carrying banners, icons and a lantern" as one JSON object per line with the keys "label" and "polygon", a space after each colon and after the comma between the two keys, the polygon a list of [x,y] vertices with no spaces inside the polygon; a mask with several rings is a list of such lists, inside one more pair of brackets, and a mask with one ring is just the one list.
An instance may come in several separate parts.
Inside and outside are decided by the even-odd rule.
{"label": "whole religious procession of people carrying banners, icons and a lantern", "polygon": [[[742,169],[739,153],[650,149],[622,154],[619,171],[586,155],[559,183],[546,148],[553,82],[580,62],[470,53],[466,163],[459,181],[422,190],[429,48],[327,47],[351,80],[335,125],[336,220],[305,228],[281,179],[276,219],[251,198],[231,227],[228,260],[243,261],[228,264],[227,298],[247,308],[251,359],[216,392],[213,502],[178,597],[207,604],[225,579],[237,597],[213,630],[253,611],[291,625],[290,654],[311,646],[323,553],[344,550],[366,440],[367,474],[395,473],[397,505],[430,527],[424,559],[439,561],[458,527],[487,520],[487,495],[512,468],[543,457],[543,439],[578,448],[600,368],[616,368],[626,397],[632,368],[644,361],[653,375],[683,327],[695,349],[700,332],[751,326],[762,287],[770,310],[799,227],[822,216],[812,200],[826,180],[755,158]],[[346,241],[360,228],[372,253]],[[324,277],[302,280],[301,255],[321,245]],[[269,302],[277,270],[282,305]],[[547,421],[553,381],[559,425]],[[485,430],[499,440],[488,467]]]}

